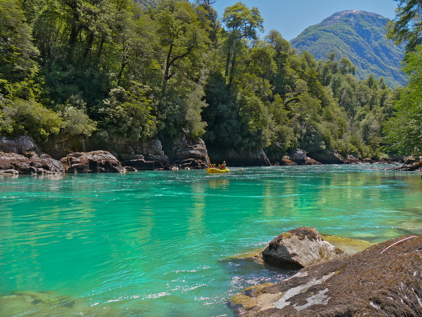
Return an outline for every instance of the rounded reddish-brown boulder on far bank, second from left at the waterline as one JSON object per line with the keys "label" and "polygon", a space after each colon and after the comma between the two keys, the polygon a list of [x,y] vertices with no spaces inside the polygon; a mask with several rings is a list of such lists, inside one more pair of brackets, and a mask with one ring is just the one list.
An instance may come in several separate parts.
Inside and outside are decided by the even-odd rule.
{"label": "rounded reddish-brown boulder on far bank, second from left at the waterline", "polygon": [[70,153],[60,159],[68,173],[122,172],[122,164],[107,151]]}

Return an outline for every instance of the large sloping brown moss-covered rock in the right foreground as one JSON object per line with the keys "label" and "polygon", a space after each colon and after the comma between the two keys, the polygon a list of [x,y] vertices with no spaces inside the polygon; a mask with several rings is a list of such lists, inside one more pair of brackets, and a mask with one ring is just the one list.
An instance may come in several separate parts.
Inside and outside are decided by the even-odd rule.
{"label": "large sloping brown moss-covered rock in the right foreground", "polygon": [[406,235],[245,290],[235,316],[422,316],[422,240]]}

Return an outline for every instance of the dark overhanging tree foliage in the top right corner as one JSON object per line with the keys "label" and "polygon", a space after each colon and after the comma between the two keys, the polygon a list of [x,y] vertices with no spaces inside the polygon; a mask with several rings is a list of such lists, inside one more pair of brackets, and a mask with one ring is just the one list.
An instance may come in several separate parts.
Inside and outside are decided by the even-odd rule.
{"label": "dark overhanging tree foliage in the top right corner", "polygon": [[398,45],[407,42],[406,50],[412,51],[422,44],[422,2],[420,0],[395,0],[398,2],[396,16],[388,22],[387,38]]}

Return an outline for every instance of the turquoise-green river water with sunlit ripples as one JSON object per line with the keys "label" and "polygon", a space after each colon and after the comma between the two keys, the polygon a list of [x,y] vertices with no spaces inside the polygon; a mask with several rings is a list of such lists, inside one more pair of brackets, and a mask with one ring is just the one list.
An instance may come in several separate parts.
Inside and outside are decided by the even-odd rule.
{"label": "turquoise-green river water with sunlit ripples", "polygon": [[233,316],[242,288],[294,273],[235,258],[282,232],[422,234],[420,173],[372,167],[0,178],[0,295],[47,291],[84,316]]}

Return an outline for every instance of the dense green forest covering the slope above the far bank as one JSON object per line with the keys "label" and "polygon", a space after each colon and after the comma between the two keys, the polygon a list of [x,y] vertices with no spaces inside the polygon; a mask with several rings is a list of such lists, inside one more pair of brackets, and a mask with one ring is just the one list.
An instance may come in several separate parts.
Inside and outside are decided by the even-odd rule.
{"label": "dense green forest covering the slope above the far bank", "polygon": [[421,120],[420,99],[408,97],[421,96],[420,50],[408,57],[411,84],[393,90],[382,77],[357,80],[345,57],[317,61],[276,30],[264,35],[256,7],[238,2],[220,21],[206,0],[151,5],[0,0],[0,134],[38,144],[158,136],[171,148],[187,133],[221,155],[421,152],[405,135],[420,136],[420,124],[405,131]]}

